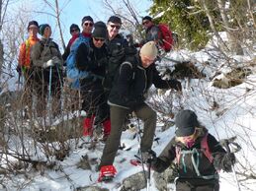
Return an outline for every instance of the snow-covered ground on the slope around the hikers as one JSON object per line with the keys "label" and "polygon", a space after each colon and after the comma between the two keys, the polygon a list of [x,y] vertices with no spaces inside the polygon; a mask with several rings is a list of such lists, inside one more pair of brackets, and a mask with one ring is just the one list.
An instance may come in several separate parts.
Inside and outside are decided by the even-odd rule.
{"label": "snow-covered ground on the slope around the hikers", "polygon": [[[174,96],[172,92],[167,91],[164,95],[157,96],[157,98],[159,98],[159,100],[164,100],[172,96],[174,99],[174,112],[176,112],[175,106],[178,107],[178,105],[194,110],[198,114],[199,120],[218,140],[237,136],[236,142],[242,147],[242,150],[236,154],[238,161],[235,165],[235,171],[239,173],[248,172],[248,170],[246,171],[242,168],[242,166],[244,166],[253,171],[255,175],[256,73],[252,69],[252,74],[239,86],[230,89],[214,88],[210,79],[213,77],[215,70],[218,69],[225,72],[228,69],[220,67],[224,63],[224,60],[221,60],[220,58],[213,59],[213,57],[210,56],[213,55],[213,53],[216,54],[216,52],[210,52],[205,49],[193,53],[182,50],[168,54],[167,57],[178,61],[193,60],[196,63],[196,66],[207,74],[208,78],[201,80],[192,79],[189,83],[188,80],[182,80],[182,96]],[[241,65],[245,61],[250,61],[252,59],[248,56],[233,58]],[[210,65],[204,65],[205,62],[209,62]],[[160,65],[169,68],[172,68],[173,64],[174,63],[165,59],[160,63]],[[213,102],[216,102],[218,106],[213,108]],[[137,125],[136,120],[134,120],[133,123]],[[155,132],[156,136],[160,139],[158,143],[154,142],[152,149],[157,154],[164,149],[174,136],[175,132],[175,126],[170,126],[170,128],[162,132],[161,128],[163,125],[163,123],[158,122]],[[88,144],[84,144],[81,148],[72,148],[68,157],[62,161],[56,160],[55,167],[50,170],[43,170],[43,173],[41,173],[40,170],[35,171],[31,169],[30,173],[26,175],[13,174],[11,175],[11,180],[4,178],[1,182],[4,186],[1,187],[0,185],[0,190],[71,191],[78,187],[89,185],[100,186],[113,191],[120,190],[120,185],[125,178],[142,169],[141,166],[132,166],[129,163],[129,159],[133,159],[133,156],[138,151],[139,144],[137,138],[134,138],[135,133],[134,129],[129,129],[123,132],[121,143],[122,145],[125,144],[125,150],[129,147],[131,149],[128,151],[119,150],[114,163],[118,170],[118,174],[113,182],[97,182],[99,173],[96,172],[96,164],[92,165],[91,170],[84,170],[77,165],[77,163],[79,163],[79,161],[86,155],[88,156],[88,159],[95,159],[97,162],[100,161],[104,144],[98,143],[96,150],[93,151],[88,150]],[[72,140],[70,141],[72,142]],[[81,145],[82,143],[83,141],[81,139],[78,145]],[[247,174],[250,173],[248,172]],[[234,177],[235,175],[233,173],[220,171],[220,191],[238,190]],[[246,177],[238,175],[238,173],[237,178],[241,190],[256,190],[255,179],[246,180]],[[153,179],[151,179],[150,190],[156,190]]]}

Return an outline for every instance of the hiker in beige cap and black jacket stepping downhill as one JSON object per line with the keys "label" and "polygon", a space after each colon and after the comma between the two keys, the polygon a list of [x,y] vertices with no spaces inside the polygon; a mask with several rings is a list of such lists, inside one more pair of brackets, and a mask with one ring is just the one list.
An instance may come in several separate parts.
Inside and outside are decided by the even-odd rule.
{"label": "hiker in beige cap and black jacket stepping downhill", "polygon": [[156,112],[144,102],[144,94],[151,85],[154,84],[160,89],[172,88],[181,91],[180,82],[164,81],[160,78],[153,64],[157,53],[155,42],[149,41],[141,47],[139,54],[126,58],[117,71],[108,99],[111,106],[112,130],[101,158],[99,181],[115,176],[116,168],[113,162],[119,149],[123,123],[131,111],[144,122],[140,143],[142,154],[151,149],[156,127]]}

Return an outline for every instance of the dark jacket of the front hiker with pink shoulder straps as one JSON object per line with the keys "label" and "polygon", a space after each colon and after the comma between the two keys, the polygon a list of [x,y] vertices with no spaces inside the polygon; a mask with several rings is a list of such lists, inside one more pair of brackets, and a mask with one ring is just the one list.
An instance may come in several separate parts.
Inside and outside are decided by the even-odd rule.
{"label": "dark jacket of the front hiker with pink shoulder straps", "polygon": [[[213,162],[210,161],[206,157],[205,154],[201,151],[201,141],[204,136],[208,136],[208,146],[210,152],[213,156]],[[217,169],[224,168],[224,166],[219,166],[219,164],[223,164],[225,161],[225,150],[219,145],[219,143],[215,140],[213,135],[208,134],[208,131],[205,128],[197,129],[197,139],[194,146],[191,149],[188,149],[184,144],[177,141],[177,138],[173,138],[169,144],[165,147],[160,156],[152,163],[152,167],[157,172],[164,171],[174,159],[177,160],[177,150],[180,151],[192,151],[193,149],[197,149],[199,152],[199,156],[193,155],[195,161],[199,161],[198,169],[202,176],[211,177],[214,175],[214,178],[203,178],[197,174],[197,171],[193,165],[192,154],[184,155],[184,158],[180,156],[178,164],[178,180],[180,182],[187,182],[193,186],[205,185],[217,182]],[[183,158],[183,159],[182,159]]]}

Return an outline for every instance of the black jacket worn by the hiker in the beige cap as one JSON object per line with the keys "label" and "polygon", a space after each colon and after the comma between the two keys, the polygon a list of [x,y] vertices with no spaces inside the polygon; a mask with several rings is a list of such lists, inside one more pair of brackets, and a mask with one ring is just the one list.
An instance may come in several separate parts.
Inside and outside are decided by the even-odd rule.
{"label": "black jacket worn by the hiker in the beige cap", "polygon": [[143,68],[139,54],[126,58],[117,71],[109,104],[135,109],[143,104],[152,84],[158,89],[176,88],[176,80],[164,81],[155,65]]}

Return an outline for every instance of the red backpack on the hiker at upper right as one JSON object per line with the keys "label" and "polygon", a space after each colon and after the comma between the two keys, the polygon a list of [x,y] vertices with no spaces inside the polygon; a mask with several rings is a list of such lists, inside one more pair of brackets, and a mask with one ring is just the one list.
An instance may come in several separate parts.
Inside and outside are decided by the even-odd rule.
{"label": "red backpack on the hiker at upper right", "polygon": [[169,52],[173,46],[172,32],[170,31],[169,27],[165,24],[159,24],[158,28],[160,30],[160,46],[164,49],[165,52]]}

